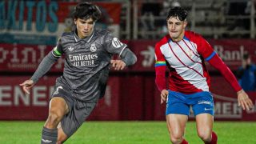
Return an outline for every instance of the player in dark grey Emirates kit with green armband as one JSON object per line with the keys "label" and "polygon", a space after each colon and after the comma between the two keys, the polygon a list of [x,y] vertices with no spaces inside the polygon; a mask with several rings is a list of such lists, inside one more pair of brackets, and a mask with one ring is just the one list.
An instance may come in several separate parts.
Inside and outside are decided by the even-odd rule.
{"label": "player in dark grey Emirates kit with green armband", "polygon": [[[118,38],[106,30],[94,29],[100,17],[101,11],[94,4],[82,2],[75,6],[76,29],[62,34],[33,76],[20,84],[30,94],[30,88],[65,54],[63,75],[57,78],[50,98],[41,143],[62,143],[70,138],[104,95],[110,65],[114,70],[122,70],[137,61],[135,54]],[[121,59],[111,60],[113,54]]]}

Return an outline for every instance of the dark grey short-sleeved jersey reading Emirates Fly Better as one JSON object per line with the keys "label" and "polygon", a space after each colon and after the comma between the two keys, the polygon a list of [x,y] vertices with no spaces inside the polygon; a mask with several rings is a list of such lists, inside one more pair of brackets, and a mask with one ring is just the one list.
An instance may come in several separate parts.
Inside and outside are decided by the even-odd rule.
{"label": "dark grey short-sleeved jersey reading Emirates Fly Better", "polygon": [[105,92],[112,54],[121,55],[125,50],[126,44],[106,30],[94,30],[84,39],[74,32],[62,34],[52,50],[55,58],[66,56],[64,72],[57,79],[57,85],[66,85],[81,101],[97,101]]}

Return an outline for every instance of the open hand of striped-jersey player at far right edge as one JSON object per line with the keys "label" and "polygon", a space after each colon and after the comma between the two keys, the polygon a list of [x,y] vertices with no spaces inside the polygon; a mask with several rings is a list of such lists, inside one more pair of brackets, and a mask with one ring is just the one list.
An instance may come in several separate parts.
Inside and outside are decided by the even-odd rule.
{"label": "open hand of striped-jersey player at far right edge", "polygon": [[242,110],[250,110],[251,108],[253,108],[254,104],[244,90],[238,91],[237,94],[238,106],[242,106]]}

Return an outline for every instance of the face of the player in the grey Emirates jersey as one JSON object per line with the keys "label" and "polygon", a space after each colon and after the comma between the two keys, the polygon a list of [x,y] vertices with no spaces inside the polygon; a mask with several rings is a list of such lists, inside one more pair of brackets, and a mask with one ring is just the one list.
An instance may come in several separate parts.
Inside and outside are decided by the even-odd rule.
{"label": "face of the player in the grey Emirates jersey", "polygon": [[74,24],[76,24],[77,26],[79,38],[86,38],[94,30],[94,20],[92,18],[88,18],[88,19],[77,18],[74,20]]}

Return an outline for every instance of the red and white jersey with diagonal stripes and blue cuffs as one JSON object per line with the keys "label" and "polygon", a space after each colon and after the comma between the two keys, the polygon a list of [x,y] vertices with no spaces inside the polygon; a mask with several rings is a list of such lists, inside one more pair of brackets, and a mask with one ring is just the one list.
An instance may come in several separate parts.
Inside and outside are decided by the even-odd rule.
{"label": "red and white jersey with diagonal stripes and blue cuffs", "polygon": [[173,42],[167,34],[155,46],[155,67],[168,66],[170,90],[184,94],[209,91],[210,76],[204,60],[214,54],[212,46],[199,34],[186,31],[179,42]]}

